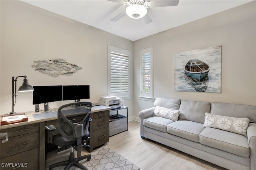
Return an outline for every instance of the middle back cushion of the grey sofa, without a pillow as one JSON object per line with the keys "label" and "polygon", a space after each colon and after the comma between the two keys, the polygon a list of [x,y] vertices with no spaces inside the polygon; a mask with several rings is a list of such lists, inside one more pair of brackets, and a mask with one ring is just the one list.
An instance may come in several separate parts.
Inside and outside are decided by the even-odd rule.
{"label": "middle back cushion of the grey sofa, without a pillow", "polygon": [[205,113],[210,111],[211,103],[182,100],[179,119],[204,123]]}

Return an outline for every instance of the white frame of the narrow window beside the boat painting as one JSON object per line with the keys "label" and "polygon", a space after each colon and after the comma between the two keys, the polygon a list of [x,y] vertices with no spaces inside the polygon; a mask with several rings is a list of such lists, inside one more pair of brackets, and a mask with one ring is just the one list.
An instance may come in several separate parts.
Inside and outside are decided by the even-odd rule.
{"label": "white frame of the narrow window beside the boat painting", "polygon": [[[149,70],[149,75],[150,75],[150,83],[149,83],[149,87],[150,87],[150,92],[146,92],[143,88],[143,86],[145,85],[146,82],[144,82],[145,79],[144,75],[143,75],[143,71],[144,71],[144,61],[143,61],[143,56],[149,54],[150,55],[150,69]],[[143,98],[153,98],[153,47],[149,47],[146,49],[141,49],[140,50],[140,99]]]}

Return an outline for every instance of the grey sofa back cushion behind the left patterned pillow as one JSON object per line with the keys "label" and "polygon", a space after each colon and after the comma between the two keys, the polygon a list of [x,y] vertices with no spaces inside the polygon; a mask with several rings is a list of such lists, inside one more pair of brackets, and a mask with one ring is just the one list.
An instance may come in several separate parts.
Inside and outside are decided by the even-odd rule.
{"label": "grey sofa back cushion behind the left patterned pillow", "polygon": [[165,97],[157,97],[154,102],[154,107],[161,106],[167,109],[179,110],[180,99],[170,99]]}

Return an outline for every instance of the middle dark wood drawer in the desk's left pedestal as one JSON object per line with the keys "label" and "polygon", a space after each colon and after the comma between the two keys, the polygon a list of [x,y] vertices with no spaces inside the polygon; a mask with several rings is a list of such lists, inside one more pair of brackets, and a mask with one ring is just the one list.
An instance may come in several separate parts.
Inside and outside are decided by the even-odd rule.
{"label": "middle dark wood drawer in the desk's left pedestal", "polygon": [[1,158],[37,148],[39,144],[38,141],[38,132],[8,138],[8,141],[5,143],[2,143],[1,140]]}

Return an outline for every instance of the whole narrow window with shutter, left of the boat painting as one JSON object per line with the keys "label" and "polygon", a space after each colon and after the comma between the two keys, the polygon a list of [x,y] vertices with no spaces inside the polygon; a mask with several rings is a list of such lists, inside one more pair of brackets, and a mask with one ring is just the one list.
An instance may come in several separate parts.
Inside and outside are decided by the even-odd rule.
{"label": "whole narrow window with shutter, left of the boat painting", "polygon": [[140,50],[141,55],[141,97],[153,97],[153,48]]}

